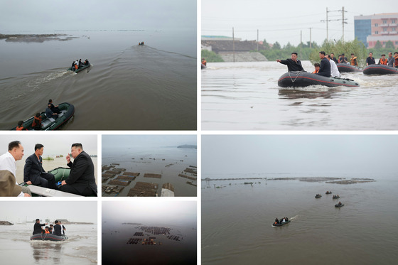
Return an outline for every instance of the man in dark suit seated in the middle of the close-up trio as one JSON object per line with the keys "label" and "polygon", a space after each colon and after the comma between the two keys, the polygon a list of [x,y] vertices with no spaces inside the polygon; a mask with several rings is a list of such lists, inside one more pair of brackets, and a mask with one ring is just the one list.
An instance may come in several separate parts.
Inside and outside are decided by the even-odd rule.
{"label": "man in dark suit seated in the middle of the close-up trio", "polygon": [[43,169],[43,144],[35,145],[35,153],[26,158],[23,168],[23,181],[28,185],[41,185],[43,188],[55,189],[55,178],[51,173],[46,173]]}

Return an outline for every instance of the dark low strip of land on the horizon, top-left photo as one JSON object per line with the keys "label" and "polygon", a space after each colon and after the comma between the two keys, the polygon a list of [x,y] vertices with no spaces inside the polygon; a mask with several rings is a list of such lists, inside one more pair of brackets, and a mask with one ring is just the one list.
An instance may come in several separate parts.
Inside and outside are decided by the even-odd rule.
{"label": "dark low strip of land on the horizon, top-left photo", "polygon": [[43,43],[45,40],[67,41],[74,38],[67,34],[0,34],[0,40],[12,43]]}

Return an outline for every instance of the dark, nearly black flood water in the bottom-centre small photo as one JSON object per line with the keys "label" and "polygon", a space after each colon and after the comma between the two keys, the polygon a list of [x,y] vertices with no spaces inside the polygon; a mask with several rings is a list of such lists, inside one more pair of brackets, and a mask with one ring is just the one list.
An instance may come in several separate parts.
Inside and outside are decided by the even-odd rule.
{"label": "dark, nearly black flood water in the bottom-centre small photo", "polygon": [[[196,227],[147,223],[144,226],[168,227],[170,234],[180,241],[168,239],[167,235],[144,232],[143,237],[134,237],[143,232],[139,225],[102,222],[102,264],[196,264]],[[156,237],[156,245],[127,244],[129,239]],[[160,242],[162,244],[160,244]]]}

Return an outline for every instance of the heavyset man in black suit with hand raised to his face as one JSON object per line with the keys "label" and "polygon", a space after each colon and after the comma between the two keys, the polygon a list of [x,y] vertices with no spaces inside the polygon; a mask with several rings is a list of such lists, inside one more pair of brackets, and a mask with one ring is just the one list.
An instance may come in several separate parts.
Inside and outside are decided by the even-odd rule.
{"label": "heavyset man in black suit with hand raised to his face", "polygon": [[[70,161],[70,155],[75,159],[73,163]],[[63,180],[60,190],[82,196],[97,195],[94,163],[90,156],[83,151],[82,144],[72,144],[70,155],[66,156],[70,167],[69,177],[67,180]]]}

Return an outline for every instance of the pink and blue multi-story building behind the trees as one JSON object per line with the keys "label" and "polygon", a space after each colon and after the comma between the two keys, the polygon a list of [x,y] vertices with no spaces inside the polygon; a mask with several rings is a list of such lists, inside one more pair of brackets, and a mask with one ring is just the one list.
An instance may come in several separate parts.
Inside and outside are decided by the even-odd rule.
{"label": "pink and blue multi-story building behind the trees", "polygon": [[377,40],[383,46],[392,41],[398,48],[398,13],[377,13],[371,16],[355,16],[355,38],[367,48],[374,48]]}

